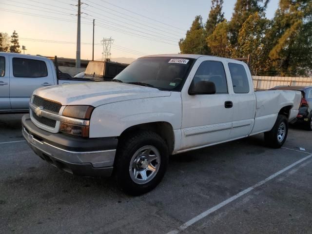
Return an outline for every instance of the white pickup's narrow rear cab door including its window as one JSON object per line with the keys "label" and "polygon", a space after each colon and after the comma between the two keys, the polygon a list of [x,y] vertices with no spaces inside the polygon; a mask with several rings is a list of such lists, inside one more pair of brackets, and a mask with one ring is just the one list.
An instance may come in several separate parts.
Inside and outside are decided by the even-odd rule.
{"label": "white pickup's narrow rear cab door including its window", "polygon": [[[247,64],[228,63],[233,85],[233,128],[231,139],[246,137],[252,131],[255,115],[255,95]],[[247,74],[247,72],[248,74]]]}

